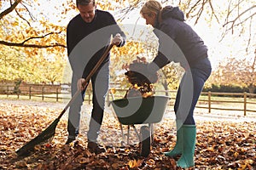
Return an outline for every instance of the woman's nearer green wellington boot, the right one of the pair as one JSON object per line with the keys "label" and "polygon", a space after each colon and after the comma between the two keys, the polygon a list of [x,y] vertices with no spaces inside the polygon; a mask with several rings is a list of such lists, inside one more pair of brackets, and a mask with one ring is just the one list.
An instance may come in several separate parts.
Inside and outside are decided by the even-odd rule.
{"label": "woman's nearer green wellington boot, the right one of the pair", "polygon": [[194,167],[195,125],[183,125],[183,153],[177,161],[177,167]]}

